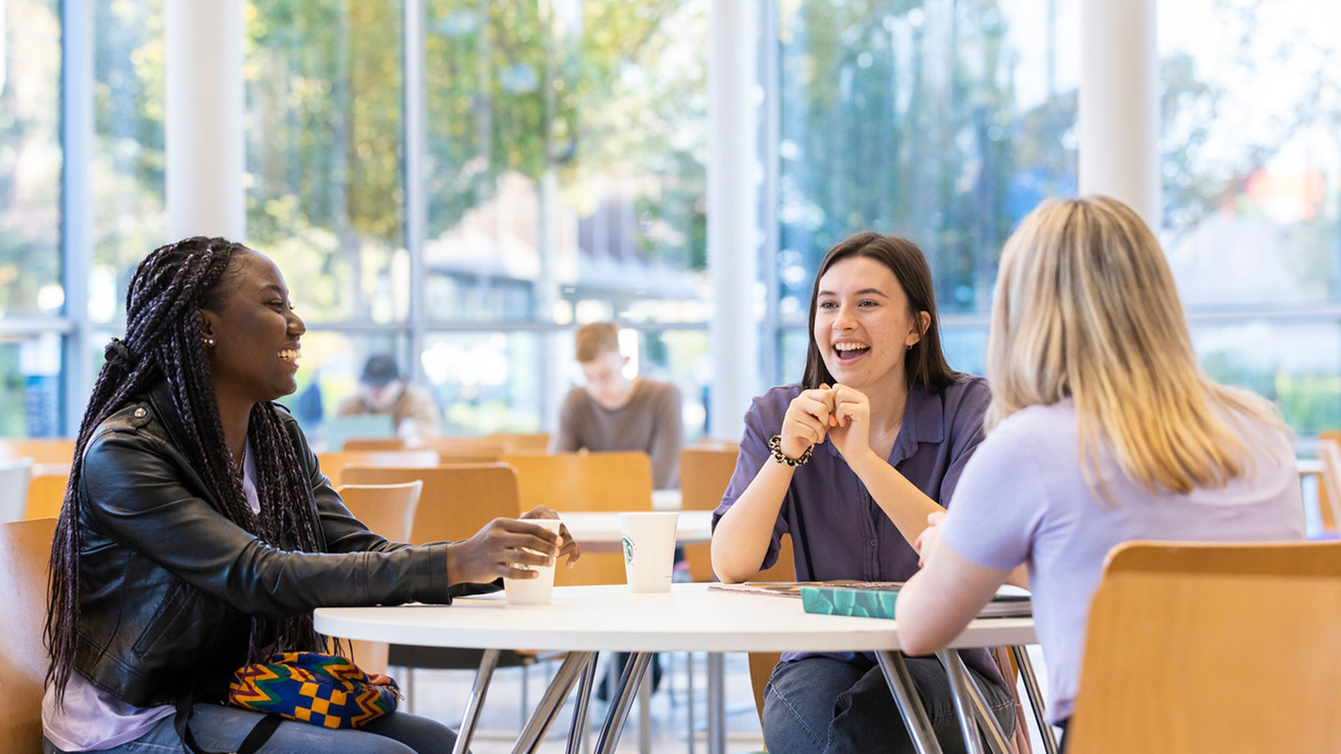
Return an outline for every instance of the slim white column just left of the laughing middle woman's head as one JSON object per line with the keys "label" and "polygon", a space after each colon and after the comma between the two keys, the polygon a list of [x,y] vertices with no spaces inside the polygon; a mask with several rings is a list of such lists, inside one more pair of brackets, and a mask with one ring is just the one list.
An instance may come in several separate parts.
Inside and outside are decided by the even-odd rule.
{"label": "slim white column just left of the laughing middle woman's head", "polygon": [[708,54],[708,435],[739,439],[759,392],[756,0],[715,0]]}

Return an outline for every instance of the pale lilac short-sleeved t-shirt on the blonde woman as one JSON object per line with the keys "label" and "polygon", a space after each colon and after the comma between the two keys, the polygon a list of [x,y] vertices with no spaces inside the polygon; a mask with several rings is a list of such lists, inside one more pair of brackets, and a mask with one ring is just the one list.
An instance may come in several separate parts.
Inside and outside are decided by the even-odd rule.
{"label": "pale lilac short-sleeved t-shirt on the blonde woman", "polygon": [[1067,719],[1074,708],[1089,604],[1114,545],[1303,538],[1303,500],[1289,439],[1261,423],[1240,421],[1252,464],[1224,487],[1152,494],[1101,453],[1098,479],[1116,506],[1096,499],[1085,483],[1077,413],[1069,400],[1010,416],[968,462],[941,541],[986,568],[1029,565],[1051,722]]}

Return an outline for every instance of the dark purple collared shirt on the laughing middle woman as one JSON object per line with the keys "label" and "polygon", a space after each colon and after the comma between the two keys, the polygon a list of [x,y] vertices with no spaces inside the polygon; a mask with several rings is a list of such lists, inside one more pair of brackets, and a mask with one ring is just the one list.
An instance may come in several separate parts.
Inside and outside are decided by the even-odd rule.
{"label": "dark purple collared shirt on the laughing middle woman", "polygon": [[[774,388],[756,397],[746,412],[736,471],[721,504],[712,514],[713,527],[746,491],[759,468],[776,463],[770,457],[768,439],[782,429],[787,405],[799,393],[799,384]],[[904,423],[889,453],[889,464],[928,498],[947,504],[964,464],[983,439],[983,413],[990,400],[987,381],[982,377],[960,377],[940,393],[915,385],[908,390]],[[986,515],[991,518],[991,514]],[[783,534],[791,534],[798,581],[907,581],[917,572],[917,553],[876,504],[833,443],[815,445],[810,463],[797,467],[762,568],[778,561],[778,542]],[[803,656],[809,653],[789,652],[783,660]],[[850,652],[829,656],[857,657]],[[964,657],[988,678],[1000,678],[986,651],[964,652]],[[868,657],[868,661],[873,660]]]}

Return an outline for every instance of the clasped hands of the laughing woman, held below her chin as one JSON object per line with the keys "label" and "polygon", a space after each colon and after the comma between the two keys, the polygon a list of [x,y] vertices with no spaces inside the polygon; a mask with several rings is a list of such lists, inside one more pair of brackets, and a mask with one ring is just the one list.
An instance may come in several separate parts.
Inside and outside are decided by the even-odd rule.
{"label": "clasped hands of the laughing woman, held below her chin", "polygon": [[802,390],[782,417],[782,453],[801,457],[810,445],[830,439],[849,463],[870,451],[870,401],[843,384]]}

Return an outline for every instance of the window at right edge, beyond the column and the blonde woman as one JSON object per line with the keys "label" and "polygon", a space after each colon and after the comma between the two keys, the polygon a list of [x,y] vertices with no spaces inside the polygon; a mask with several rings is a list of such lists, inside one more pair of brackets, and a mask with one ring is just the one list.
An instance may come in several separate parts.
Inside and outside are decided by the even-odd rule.
{"label": "window at right edge, beyond the column and the blonde woman", "polygon": [[1341,425],[1341,8],[1159,4],[1161,241],[1212,377]]}

